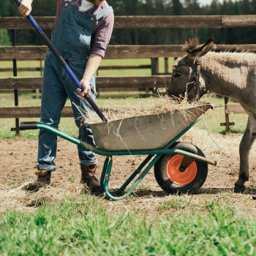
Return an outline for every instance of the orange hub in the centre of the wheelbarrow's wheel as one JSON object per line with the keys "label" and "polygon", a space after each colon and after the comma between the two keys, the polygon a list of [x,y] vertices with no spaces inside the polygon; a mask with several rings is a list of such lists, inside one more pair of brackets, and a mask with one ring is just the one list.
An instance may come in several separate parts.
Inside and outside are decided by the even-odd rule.
{"label": "orange hub in the centre of the wheelbarrow's wheel", "polygon": [[174,184],[177,185],[187,185],[192,182],[197,175],[197,164],[192,162],[184,172],[179,170],[181,166],[181,162],[184,156],[181,154],[176,154],[175,156],[171,157],[169,162],[167,162],[166,166],[166,173],[167,177],[172,181]]}

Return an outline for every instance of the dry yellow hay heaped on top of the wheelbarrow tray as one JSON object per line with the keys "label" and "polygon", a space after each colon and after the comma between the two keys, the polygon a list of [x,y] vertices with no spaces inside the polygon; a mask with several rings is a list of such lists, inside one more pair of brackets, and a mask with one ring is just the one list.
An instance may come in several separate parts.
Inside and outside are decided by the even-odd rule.
{"label": "dry yellow hay heaped on top of the wheelbarrow tray", "polygon": [[[102,113],[110,121],[123,120],[136,116],[158,115],[162,113],[173,113],[174,110],[184,111],[192,107],[200,107],[206,105],[208,97],[204,97],[200,102],[188,102],[187,99],[170,100],[165,97],[149,97],[147,99],[138,98],[135,105],[115,105],[111,102],[106,102]],[[76,106],[79,108],[78,106]],[[79,108],[80,109],[80,108]],[[97,113],[90,111],[85,113],[80,109],[83,121],[88,124],[97,124],[102,122]]]}

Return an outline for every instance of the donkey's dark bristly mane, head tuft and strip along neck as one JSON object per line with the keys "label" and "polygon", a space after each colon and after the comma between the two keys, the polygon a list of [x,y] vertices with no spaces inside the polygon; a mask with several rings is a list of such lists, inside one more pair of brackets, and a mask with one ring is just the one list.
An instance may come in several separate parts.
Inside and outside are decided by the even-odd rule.
{"label": "donkey's dark bristly mane, head tuft and strip along neck", "polygon": [[[189,41],[184,43],[182,49],[189,53],[191,50],[194,50],[198,46],[200,46],[200,42],[197,37],[192,39],[189,38]],[[211,51],[214,53],[256,53],[256,50],[244,50],[243,48],[228,45],[213,45]]]}

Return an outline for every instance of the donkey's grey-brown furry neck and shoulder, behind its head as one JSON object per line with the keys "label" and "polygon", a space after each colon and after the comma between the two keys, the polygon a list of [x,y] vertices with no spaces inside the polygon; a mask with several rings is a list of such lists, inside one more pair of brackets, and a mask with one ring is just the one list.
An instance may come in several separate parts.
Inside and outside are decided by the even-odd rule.
{"label": "donkey's grey-brown furry neck and shoulder, behind its head", "polygon": [[201,74],[206,87],[216,94],[246,102],[256,89],[255,53],[214,53],[203,56]]}

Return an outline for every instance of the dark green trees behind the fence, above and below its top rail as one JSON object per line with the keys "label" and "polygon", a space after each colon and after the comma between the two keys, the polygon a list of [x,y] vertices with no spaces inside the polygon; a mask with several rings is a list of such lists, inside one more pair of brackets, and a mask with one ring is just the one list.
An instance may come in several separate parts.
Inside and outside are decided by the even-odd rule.
{"label": "dark green trees behind the fence, above and below its top rail", "polygon": [[[256,13],[256,0],[218,0],[200,6],[197,0],[108,0],[115,15],[253,15]],[[56,2],[53,0],[34,1],[32,15],[54,16]],[[17,5],[12,0],[1,3],[0,16],[18,16]],[[46,31],[50,36],[50,31]],[[219,29],[116,29],[110,44],[112,45],[158,45],[181,44],[189,37],[199,37],[206,41],[214,37],[220,43]],[[33,29],[17,32],[18,45],[42,45]],[[256,41],[254,28],[226,29],[226,44],[252,44]],[[0,45],[10,45],[10,34],[0,32]]]}

